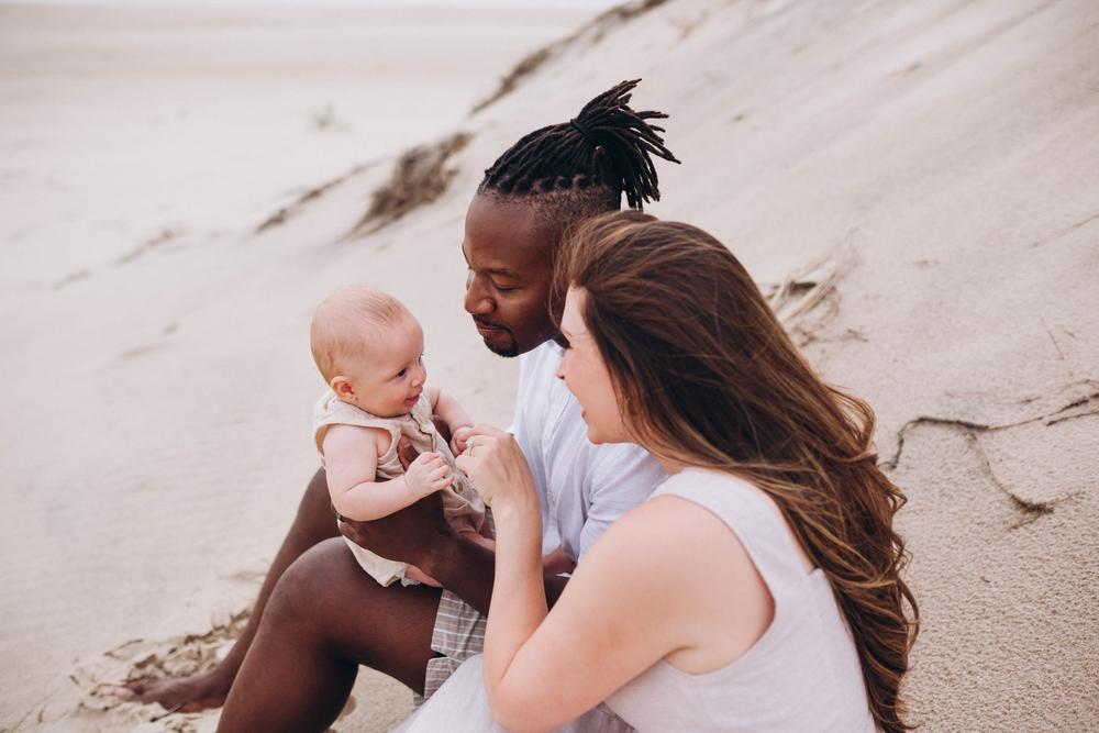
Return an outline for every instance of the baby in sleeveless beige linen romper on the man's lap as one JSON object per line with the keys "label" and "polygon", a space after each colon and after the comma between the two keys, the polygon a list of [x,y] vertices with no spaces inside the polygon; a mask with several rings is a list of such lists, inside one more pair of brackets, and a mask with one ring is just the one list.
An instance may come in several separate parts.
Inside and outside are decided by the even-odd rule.
{"label": "baby in sleeveless beige linen romper on the man's lap", "polygon": [[[423,331],[392,296],[347,288],[330,296],[313,314],[310,345],[329,385],[313,410],[313,435],[328,477],[332,506],[351,520],[391,514],[442,491],[446,520],[457,532],[491,545],[485,503],[454,468],[470,429],[462,406],[426,387]],[[451,445],[432,422],[449,429]],[[397,444],[404,436],[419,452],[408,470]],[[453,451],[453,452],[452,452]],[[358,564],[384,586],[439,584],[419,568],[379,557],[347,541]]]}

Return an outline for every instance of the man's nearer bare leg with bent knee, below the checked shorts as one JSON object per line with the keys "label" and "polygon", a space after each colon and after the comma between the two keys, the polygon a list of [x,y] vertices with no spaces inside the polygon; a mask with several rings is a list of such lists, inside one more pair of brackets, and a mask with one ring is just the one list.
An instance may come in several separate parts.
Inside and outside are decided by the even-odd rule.
{"label": "man's nearer bare leg with bent knee, below the checked shorts", "polygon": [[324,731],[360,664],[422,692],[439,597],[379,586],[342,540],[308,551],[279,580],[218,730]]}

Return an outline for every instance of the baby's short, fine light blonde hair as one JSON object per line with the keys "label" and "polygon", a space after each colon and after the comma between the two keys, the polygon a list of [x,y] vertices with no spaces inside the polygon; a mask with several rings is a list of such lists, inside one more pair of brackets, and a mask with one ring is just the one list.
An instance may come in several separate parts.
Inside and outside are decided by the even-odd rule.
{"label": "baby's short, fine light blonde hair", "polygon": [[347,359],[367,347],[370,327],[397,325],[411,313],[387,292],[353,286],[337,290],[317,307],[309,346],[325,382],[341,374]]}

